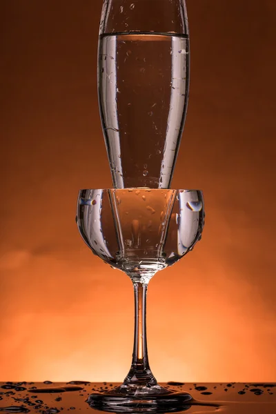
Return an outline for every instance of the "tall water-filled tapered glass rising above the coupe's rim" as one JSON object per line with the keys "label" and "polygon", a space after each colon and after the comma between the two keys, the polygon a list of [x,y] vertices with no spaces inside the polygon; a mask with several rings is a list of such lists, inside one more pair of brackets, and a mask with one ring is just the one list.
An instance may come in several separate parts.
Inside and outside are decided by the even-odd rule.
{"label": "tall water-filled tapered glass rising above the coupe's rim", "polygon": [[170,188],[189,89],[185,0],[105,0],[99,108],[115,188]]}

